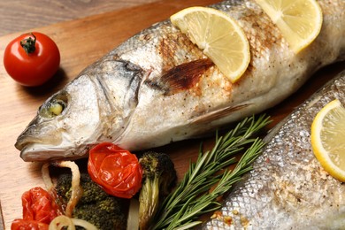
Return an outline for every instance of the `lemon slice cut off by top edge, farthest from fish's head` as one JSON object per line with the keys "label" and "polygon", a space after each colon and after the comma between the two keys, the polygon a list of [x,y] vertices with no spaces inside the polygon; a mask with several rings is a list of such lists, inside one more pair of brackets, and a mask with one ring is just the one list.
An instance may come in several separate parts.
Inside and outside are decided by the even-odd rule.
{"label": "lemon slice cut off by top edge, farthest from fish's head", "polygon": [[315,0],[256,0],[298,53],[318,36],[322,10]]}

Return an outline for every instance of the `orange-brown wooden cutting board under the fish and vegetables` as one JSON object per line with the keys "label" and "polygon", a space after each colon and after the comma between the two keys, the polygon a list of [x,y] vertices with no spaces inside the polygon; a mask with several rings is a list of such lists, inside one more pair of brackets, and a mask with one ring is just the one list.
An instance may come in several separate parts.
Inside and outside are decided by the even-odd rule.
{"label": "orange-brown wooden cutting board under the fish and vegetables", "polygon": [[[0,37],[0,202],[6,229],[10,229],[13,219],[21,218],[20,196],[22,193],[35,186],[43,187],[41,165],[23,162],[19,157],[19,151],[13,146],[17,136],[34,118],[35,112],[43,101],[58,89],[63,88],[66,82],[72,80],[87,65],[143,28],[167,19],[174,12],[185,7],[216,2],[218,1],[162,1],[30,30],[50,35],[57,42],[61,52],[61,68],[58,73],[50,82],[39,88],[21,87],[4,71],[5,46],[24,31]],[[295,95],[267,111],[274,119],[271,126],[287,116],[295,106],[302,103],[326,80],[335,73],[339,73],[343,66],[344,63],[341,63],[324,68],[316,73]],[[213,141],[209,139],[204,142],[206,146],[210,147]],[[172,156],[179,178],[186,172],[189,159],[196,158],[199,143],[200,140],[193,140],[183,142],[183,144],[174,143],[162,148]]]}

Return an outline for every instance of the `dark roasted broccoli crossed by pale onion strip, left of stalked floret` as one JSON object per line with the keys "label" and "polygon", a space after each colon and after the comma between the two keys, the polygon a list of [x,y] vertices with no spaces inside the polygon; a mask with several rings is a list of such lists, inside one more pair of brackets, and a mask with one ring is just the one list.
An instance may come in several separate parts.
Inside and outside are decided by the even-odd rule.
{"label": "dark roasted broccoli crossed by pale onion strip, left of stalked floret", "polygon": [[[58,175],[56,191],[62,205],[71,197],[71,180],[71,173]],[[80,185],[83,195],[73,210],[73,218],[87,220],[98,229],[126,229],[123,199],[107,195],[88,173],[80,173]]]}

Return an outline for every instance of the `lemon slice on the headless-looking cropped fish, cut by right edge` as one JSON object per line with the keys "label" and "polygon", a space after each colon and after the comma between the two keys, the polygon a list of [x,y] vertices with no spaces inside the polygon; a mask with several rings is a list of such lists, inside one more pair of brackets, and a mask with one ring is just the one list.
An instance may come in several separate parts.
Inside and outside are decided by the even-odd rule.
{"label": "lemon slice on the headless-looking cropped fish, cut by right edge", "polygon": [[327,103],[313,120],[311,146],[326,172],[345,181],[345,108],[339,100]]}

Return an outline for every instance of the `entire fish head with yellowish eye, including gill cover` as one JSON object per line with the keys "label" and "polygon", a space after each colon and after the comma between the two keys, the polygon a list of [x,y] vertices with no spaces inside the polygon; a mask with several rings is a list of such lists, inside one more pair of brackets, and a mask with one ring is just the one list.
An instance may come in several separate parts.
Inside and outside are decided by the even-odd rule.
{"label": "entire fish head with yellowish eye, including gill cover", "polygon": [[120,144],[138,103],[142,69],[104,58],[50,96],[19,135],[24,161],[88,157],[100,142]]}

